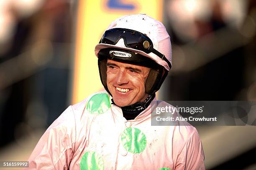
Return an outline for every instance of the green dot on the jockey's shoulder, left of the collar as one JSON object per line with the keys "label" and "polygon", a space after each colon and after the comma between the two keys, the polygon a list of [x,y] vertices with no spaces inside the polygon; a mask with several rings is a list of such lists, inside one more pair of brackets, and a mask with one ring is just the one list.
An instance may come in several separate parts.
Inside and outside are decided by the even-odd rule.
{"label": "green dot on the jockey's shoulder, left of the collar", "polygon": [[92,114],[102,114],[110,108],[110,99],[106,93],[99,93],[90,98],[87,110]]}

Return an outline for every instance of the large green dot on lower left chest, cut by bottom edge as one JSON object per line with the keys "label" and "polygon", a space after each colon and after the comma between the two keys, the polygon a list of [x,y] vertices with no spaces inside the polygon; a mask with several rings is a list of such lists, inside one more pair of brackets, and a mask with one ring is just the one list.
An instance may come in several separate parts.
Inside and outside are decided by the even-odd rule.
{"label": "large green dot on lower left chest, cut by bottom edge", "polygon": [[85,153],[80,162],[81,170],[103,170],[104,161],[100,155],[95,152],[88,151]]}

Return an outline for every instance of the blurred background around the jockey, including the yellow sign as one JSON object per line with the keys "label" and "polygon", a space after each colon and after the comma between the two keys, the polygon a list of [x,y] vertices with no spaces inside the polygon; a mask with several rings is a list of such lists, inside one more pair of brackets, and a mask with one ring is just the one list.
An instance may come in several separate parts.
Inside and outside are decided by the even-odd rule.
{"label": "blurred background around the jockey, including the yellow sign", "polygon": [[[61,112],[103,89],[94,46],[125,14],[171,37],[159,100],[256,100],[255,0],[151,1],[0,0],[0,161],[27,160]],[[255,126],[197,130],[207,169],[256,170]]]}

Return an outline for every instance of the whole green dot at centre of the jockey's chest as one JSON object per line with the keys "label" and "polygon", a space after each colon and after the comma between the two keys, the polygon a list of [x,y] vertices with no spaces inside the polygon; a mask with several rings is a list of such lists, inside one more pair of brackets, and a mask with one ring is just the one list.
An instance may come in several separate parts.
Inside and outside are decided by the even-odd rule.
{"label": "whole green dot at centre of the jockey's chest", "polygon": [[141,153],[147,144],[146,136],[137,128],[126,128],[121,140],[123,147],[130,153]]}

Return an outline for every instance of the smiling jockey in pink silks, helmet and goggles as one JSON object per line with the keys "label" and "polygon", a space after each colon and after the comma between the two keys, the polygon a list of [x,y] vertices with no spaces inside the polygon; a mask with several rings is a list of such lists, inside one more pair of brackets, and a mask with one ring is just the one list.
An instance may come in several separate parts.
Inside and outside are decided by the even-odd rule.
{"label": "smiling jockey in pink silks, helmet and goggles", "polygon": [[151,126],[151,110],[171,68],[164,25],[147,15],[110,24],[95,47],[106,91],[69,106],[46,130],[30,168],[81,170],[205,169],[191,125]]}

